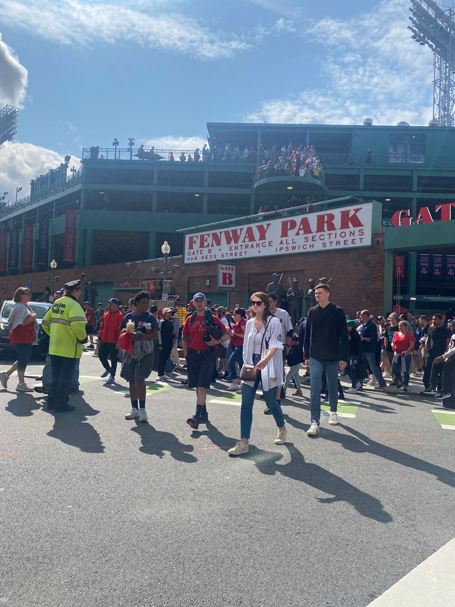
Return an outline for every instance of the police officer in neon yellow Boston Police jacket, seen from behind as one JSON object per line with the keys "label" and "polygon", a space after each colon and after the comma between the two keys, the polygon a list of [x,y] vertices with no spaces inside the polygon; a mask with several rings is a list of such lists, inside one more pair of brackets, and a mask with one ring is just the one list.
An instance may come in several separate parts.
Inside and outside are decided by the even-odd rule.
{"label": "police officer in neon yellow Boston Police jacket, seen from behind", "polygon": [[81,358],[82,344],[87,339],[86,316],[76,301],[82,294],[81,281],[73,280],[63,288],[63,297],[52,304],[41,324],[50,337],[52,382],[47,397],[47,409],[53,409],[56,413],[75,409],[69,405],[68,389],[75,359]]}

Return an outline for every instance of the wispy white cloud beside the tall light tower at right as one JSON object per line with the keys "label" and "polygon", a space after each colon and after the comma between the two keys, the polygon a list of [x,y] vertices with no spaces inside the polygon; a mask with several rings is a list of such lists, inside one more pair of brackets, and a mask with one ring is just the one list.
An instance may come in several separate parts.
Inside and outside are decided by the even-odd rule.
{"label": "wispy white cloud beside the tall light tower at right", "polygon": [[407,25],[407,0],[383,0],[346,21],[315,22],[305,32],[313,43],[305,69],[318,70],[326,89],[265,100],[246,120],[360,124],[368,116],[375,124],[426,124],[432,116],[433,61],[430,50],[411,39]]}

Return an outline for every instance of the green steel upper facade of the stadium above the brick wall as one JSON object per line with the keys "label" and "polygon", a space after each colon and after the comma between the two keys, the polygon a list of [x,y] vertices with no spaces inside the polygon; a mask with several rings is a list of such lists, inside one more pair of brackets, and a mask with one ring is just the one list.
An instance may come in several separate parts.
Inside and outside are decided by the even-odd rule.
{"label": "green steel upper facade of the stadium above the brick wall", "polygon": [[[178,255],[183,250],[178,230],[255,214],[265,205],[273,209],[345,196],[374,198],[382,203],[386,233],[408,230],[417,235],[418,242],[406,240],[402,305],[435,310],[439,304],[426,305],[419,297],[434,296],[437,302],[438,297],[452,295],[453,288],[445,280],[420,284],[417,254],[419,246],[430,253],[433,249],[433,253],[455,253],[451,243],[442,245],[434,239],[440,220],[436,209],[454,200],[454,131],[366,122],[364,126],[207,123],[211,152],[204,162],[179,161],[180,150],[174,151],[175,161],[169,161],[170,151],[157,150],[152,159],[147,154],[141,160],[140,152],[132,148],[84,149],[78,172],[68,177],[62,164],[33,180],[29,196],[0,208],[0,228],[2,232],[19,230],[22,243],[23,225],[50,220],[49,260],[55,258],[59,268],[72,267],[63,262],[65,212],[77,211],[73,266],[79,268],[160,257],[164,240],[171,254]],[[288,148],[290,142],[295,149],[300,144],[314,146],[321,164],[317,175],[291,175],[288,168],[275,168],[281,148]],[[227,144],[231,144],[231,154],[225,155]],[[271,154],[274,145],[275,156]],[[184,152],[186,157],[187,152],[194,155],[194,151]],[[433,226],[390,227],[397,211],[409,211],[415,220],[422,207],[429,209]],[[38,271],[38,229],[33,238],[33,270]],[[388,259],[393,259],[394,248],[403,249],[396,246],[399,241],[399,237],[393,240],[387,249]],[[25,270],[19,268],[19,272]],[[393,293],[389,300],[392,297]],[[447,304],[439,307],[447,308]]]}

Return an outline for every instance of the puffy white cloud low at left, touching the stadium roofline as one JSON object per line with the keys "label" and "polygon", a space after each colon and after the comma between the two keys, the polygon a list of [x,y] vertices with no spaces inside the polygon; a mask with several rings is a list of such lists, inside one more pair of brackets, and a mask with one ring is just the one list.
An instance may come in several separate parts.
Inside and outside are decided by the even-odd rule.
{"label": "puffy white cloud low at left, touching the stadium roofline", "polygon": [[[30,192],[30,180],[37,175],[44,175],[49,169],[55,169],[64,157],[58,152],[35,146],[32,143],[19,143],[7,141],[0,149],[0,190],[9,192],[6,200],[14,201],[16,188],[22,188],[21,196],[27,196]],[[69,166],[80,166],[80,160],[72,156]],[[68,172],[70,175],[70,172]]]}

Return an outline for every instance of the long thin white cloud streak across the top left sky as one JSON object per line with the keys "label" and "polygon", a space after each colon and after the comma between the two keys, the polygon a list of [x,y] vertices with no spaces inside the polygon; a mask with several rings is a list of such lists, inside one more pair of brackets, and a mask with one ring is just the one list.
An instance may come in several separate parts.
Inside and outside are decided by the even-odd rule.
{"label": "long thin white cloud streak across the top left sky", "polygon": [[250,47],[233,33],[211,32],[178,13],[149,15],[81,0],[0,0],[0,21],[60,44],[127,41],[200,59],[231,57]]}

